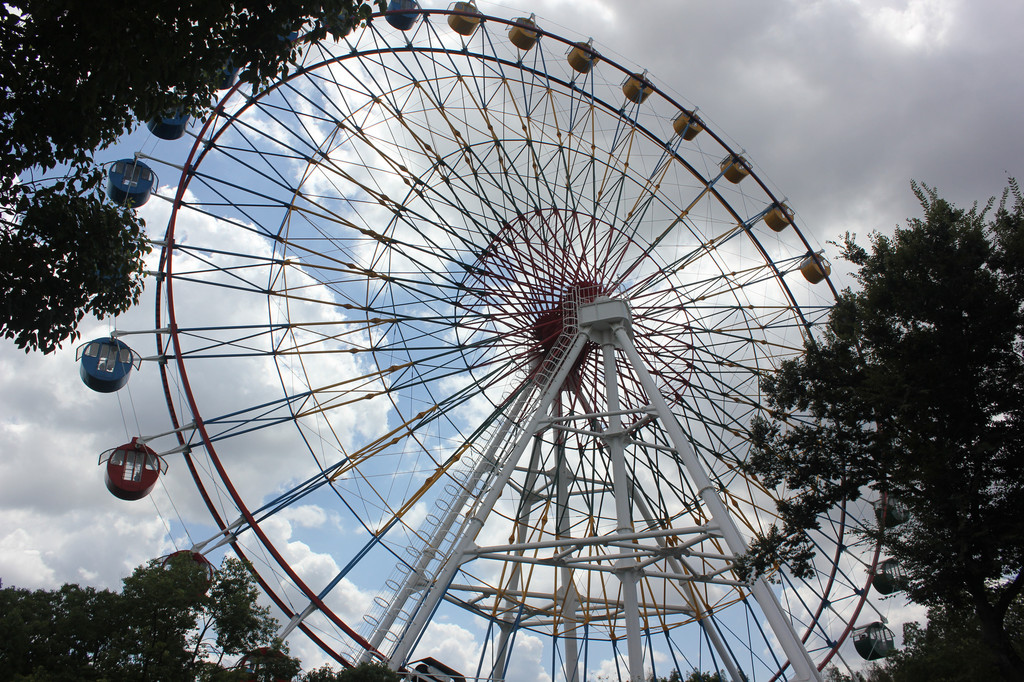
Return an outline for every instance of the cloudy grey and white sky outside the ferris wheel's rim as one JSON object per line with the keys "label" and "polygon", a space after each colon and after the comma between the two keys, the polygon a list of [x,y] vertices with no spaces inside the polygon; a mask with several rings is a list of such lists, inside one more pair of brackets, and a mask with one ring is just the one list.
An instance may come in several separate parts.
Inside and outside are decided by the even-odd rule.
{"label": "cloudy grey and white sky outside the ferris wheel's rim", "polygon": [[[916,215],[911,179],[969,205],[1000,193],[1008,176],[1024,177],[1024,3],[481,0],[478,6],[501,16],[536,12],[545,29],[593,37],[602,53],[647,70],[659,88],[698,106],[719,134],[745,151],[821,245],[847,230],[891,230]],[[125,147],[140,139],[133,136]],[[167,205],[153,202],[145,215],[159,232]],[[118,326],[144,329],[151,310],[148,299]],[[90,322],[83,338],[109,329]],[[72,344],[44,357],[4,343],[0,400],[5,586],[116,587],[131,567],[182,545],[180,531],[169,537],[166,519],[198,509],[183,467],[170,472],[170,496],[161,487],[132,505],[105,492],[96,467],[100,452],[150,428],[143,423],[166,423],[152,368],[128,390],[100,395],[79,381]],[[300,515],[286,520],[306,522]]]}

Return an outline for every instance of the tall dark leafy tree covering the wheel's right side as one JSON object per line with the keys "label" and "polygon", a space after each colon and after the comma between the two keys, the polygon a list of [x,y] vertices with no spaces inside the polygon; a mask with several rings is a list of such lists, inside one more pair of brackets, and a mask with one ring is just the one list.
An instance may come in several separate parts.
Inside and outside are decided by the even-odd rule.
{"label": "tall dark leafy tree covering the wheel's right side", "polygon": [[924,217],[873,235],[870,252],[847,235],[859,289],[764,379],[769,412],[745,468],[797,495],[741,567],[806,572],[818,514],[861,495],[898,500],[909,520],[876,532],[908,596],[973,613],[1018,679],[1006,619],[1024,588],[1024,199],[1011,180],[989,218],[993,201],[964,210],[913,189]]}

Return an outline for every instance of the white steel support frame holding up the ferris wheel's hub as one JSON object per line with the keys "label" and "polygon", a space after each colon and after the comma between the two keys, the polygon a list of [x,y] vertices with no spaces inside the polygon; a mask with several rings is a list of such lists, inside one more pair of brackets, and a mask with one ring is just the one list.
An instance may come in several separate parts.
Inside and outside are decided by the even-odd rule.
{"label": "white steel support frame holding up the ferris wheel's hub", "polygon": [[[679,421],[670,410],[633,344],[629,304],[621,299],[603,298],[589,303],[573,304],[572,307],[573,310],[566,315],[564,331],[559,343],[545,358],[546,367],[539,374],[540,399],[528,406],[528,396],[525,394],[520,396],[511,416],[506,418],[492,438],[486,455],[478,462],[471,480],[463,486],[461,497],[451,505],[444,519],[436,526],[427,541],[426,547],[420,553],[419,562],[413,570],[409,571],[404,584],[388,604],[384,615],[376,624],[370,642],[378,650],[386,652],[389,665],[394,669],[408,663],[413,647],[429,624],[438,603],[445,597],[445,593],[453,588],[474,589],[469,586],[453,586],[452,583],[459,568],[475,558],[501,557],[506,561],[525,563],[531,560],[525,555],[525,552],[529,550],[560,550],[561,565],[559,570],[563,580],[557,601],[561,604],[560,610],[564,623],[569,624],[566,627],[569,635],[565,638],[565,645],[569,651],[566,659],[570,662],[574,660],[573,652],[575,650],[575,637],[571,634],[571,624],[574,622],[573,614],[579,608],[579,595],[574,589],[572,574],[579,571],[612,570],[622,584],[621,609],[627,627],[629,679],[634,682],[642,682],[644,679],[644,652],[636,587],[638,578],[647,576],[677,581],[681,585],[688,586],[691,590],[693,583],[700,581],[737,585],[734,581],[723,580],[721,574],[694,574],[694,565],[688,563],[684,558],[685,550],[688,547],[709,538],[720,538],[724,540],[729,554],[718,558],[731,561],[735,556],[746,551],[746,543]],[[575,314],[573,315],[571,312]],[[563,383],[568,377],[573,363],[588,342],[595,343],[601,348],[608,410],[604,413],[573,415],[569,418],[552,418],[549,416],[551,407],[562,390]],[[698,495],[710,511],[710,522],[691,527],[634,531],[634,516],[631,505],[643,506],[644,503],[642,498],[632,495],[633,483],[627,474],[624,443],[630,439],[631,433],[623,425],[624,412],[618,407],[617,369],[614,359],[616,351],[625,355],[648,396],[649,403],[646,407],[646,412],[650,419],[662,422],[671,436],[673,454],[696,482]],[[604,428],[594,431],[593,435],[603,440],[611,461],[613,496],[618,521],[615,531],[597,538],[572,538],[563,537],[564,529],[559,527],[557,532],[559,538],[554,541],[478,546],[476,541],[484,521],[494,510],[495,504],[508,485],[513,472],[520,466],[535,435],[548,429],[577,428],[570,422],[579,420],[585,420],[588,423],[603,420],[607,424]],[[524,422],[526,423],[524,428],[517,426]],[[564,477],[561,479],[564,480]],[[556,510],[564,509],[564,496],[565,488],[562,485],[556,492]],[[467,508],[468,511],[464,512],[463,510]],[[645,513],[643,509],[638,509],[638,511],[641,514]],[[556,517],[558,516],[556,511]],[[457,540],[452,545],[454,549],[449,552],[447,556],[438,557],[443,539],[452,532],[457,534]],[[673,571],[666,572],[649,568],[648,566],[665,558],[668,550],[666,545],[668,538],[677,540],[669,561]],[[572,561],[572,555],[575,551],[591,544],[617,548],[617,558],[612,567],[609,568],[607,561],[596,563]],[[440,560],[436,561],[437,559]],[[435,561],[437,569],[431,570],[429,566]],[[810,655],[797,636],[792,623],[786,617],[769,585],[764,579],[759,578],[750,584],[749,589],[790,660],[793,669],[792,679],[801,682],[821,680]],[[699,604],[700,602],[698,599],[694,599],[692,603]],[[715,627],[709,626],[707,614],[692,610],[690,614],[701,624],[732,680],[742,682],[745,678],[738,664],[722,642]],[[396,624],[398,626],[397,632],[395,632]],[[497,659],[490,671],[492,680],[497,681],[504,678],[504,670],[508,665],[508,636],[511,630],[511,624],[503,629],[503,637],[497,649]],[[389,647],[389,643],[393,643],[393,646]],[[390,650],[387,650],[388,648]],[[369,653],[367,655],[369,656]],[[579,669],[569,666],[565,671],[565,680],[566,682],[579,682]]]}

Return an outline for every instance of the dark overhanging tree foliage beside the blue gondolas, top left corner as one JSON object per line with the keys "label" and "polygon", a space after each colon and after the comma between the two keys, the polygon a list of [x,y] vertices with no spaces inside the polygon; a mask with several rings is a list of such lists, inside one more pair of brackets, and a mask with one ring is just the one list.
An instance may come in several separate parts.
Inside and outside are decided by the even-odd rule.
{"label": "dark overhanging tree foliage beside the blue gondolas, top left corner", "polygon": [[0,3],[0,334],[49,352],[78,337],[86,314],[117,314],[138,301],[150,250],[142,221],[103,196],[95,152],[140,121],[204,116],[225,67],[242,67],[239,78],[252,87],[287,74],[302,40],[347,34],[374,2],[383,7]]}

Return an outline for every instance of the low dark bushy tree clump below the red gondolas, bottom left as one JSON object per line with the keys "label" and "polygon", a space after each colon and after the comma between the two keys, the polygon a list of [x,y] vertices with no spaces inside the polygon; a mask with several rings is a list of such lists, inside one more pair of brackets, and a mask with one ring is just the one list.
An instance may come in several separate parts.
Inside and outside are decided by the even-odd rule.
{"label": "low dark bushy tree clump below the red gondolas, bottom left", "polygon": [[[65,585],[0,590],[0,679],[284,680],[299,672],[257,604],[245,565],[225,559],[213,574],[187,555],[140,566],[120,593]],[[225,669],[252,653],[253,670]]]}

